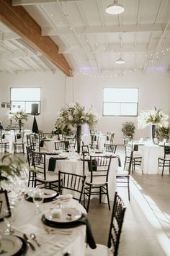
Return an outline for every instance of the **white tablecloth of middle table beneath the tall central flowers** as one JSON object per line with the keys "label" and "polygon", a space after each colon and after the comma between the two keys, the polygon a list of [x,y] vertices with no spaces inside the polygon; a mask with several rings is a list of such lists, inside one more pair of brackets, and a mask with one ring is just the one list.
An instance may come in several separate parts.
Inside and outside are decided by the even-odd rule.
{"label": "white tablecloth of middle table beneath the tall central flowers", "polygon": [[[53,156],[53,155],[52,155]],[[49,161],[50,155],[47,155],[47,160]],[[55,163],[55,171],[65,171],[71,172],[73,174],[80,174],[83,175],[83,161],[79,160],[80,155],[78,158],[70,158],[67,160],[57,160]],[[48,166],[47,161],[47,166]],[[113,201],[115,196],[116,190],[116,171],[118,166],[118,159],[112,158],[111,165],[109,168],[109,200]],[[87,162],[85,163],[85,174],[89,173],[89,168]],[[104,195],[102,196],[102,202],[107,203],[107,197]]]}

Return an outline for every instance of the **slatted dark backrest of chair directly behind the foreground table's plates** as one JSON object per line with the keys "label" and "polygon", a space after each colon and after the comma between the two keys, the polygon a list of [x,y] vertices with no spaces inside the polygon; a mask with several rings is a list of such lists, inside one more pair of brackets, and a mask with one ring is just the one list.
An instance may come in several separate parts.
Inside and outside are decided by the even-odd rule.
{"label": "slatted dark backrest of chair directly behind the foreground table's plates", "polygon": [[84,192],[85,181],[86,176],[58,171],[59,192],[62,193],[63,189],[70,190],[73,192],[73,198],[79,200],[79,202],[81,202]]}

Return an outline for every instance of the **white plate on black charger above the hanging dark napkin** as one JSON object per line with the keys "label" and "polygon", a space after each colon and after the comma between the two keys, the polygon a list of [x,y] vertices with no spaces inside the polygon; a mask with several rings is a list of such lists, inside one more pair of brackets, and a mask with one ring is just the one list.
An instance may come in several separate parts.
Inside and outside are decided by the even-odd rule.
{"label": "white plate on black charger above the hanging dark napkin", "polygon": [[59,218],[53,218],[53,215],[50,211],[45,213],[45,218],[48,221],[53,221],[55,223],[70,223],[79,220],[81,216],[81,211],[77,210],[76,208],[62,208],[62,214]]}

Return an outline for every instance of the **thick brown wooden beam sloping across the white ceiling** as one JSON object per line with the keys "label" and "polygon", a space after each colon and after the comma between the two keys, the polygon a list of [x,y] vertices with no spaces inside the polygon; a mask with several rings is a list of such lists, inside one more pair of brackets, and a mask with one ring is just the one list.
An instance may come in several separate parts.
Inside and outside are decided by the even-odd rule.
{"label": "thick brown wooden beam sloping across the white ceiling", "polygon": [[58,46],[49,36],[41,35],[40,25],[32,19],[24,7],[14,7],[11,0],[1,0],[0,20],[21,36],[25,43],[40,51],[68,77],[71,76],[71,67],[63,54],[58,54]]}

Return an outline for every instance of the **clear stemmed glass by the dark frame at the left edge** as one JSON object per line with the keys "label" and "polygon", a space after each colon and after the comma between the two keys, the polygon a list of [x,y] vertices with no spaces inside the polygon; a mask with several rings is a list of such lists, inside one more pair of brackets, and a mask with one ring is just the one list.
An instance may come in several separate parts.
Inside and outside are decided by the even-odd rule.
{"label": "clear stemmed glass by the dark frame at the left edge", "polygon": [[14,234],[14,229],[12,229],[12,223],[15,220],[15,208],[14,206],[9,206],[9,208],[4,209],[4,222],[6,223],[6,229],[4,234]]}

